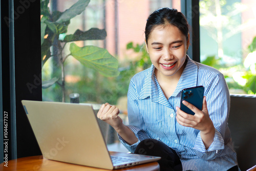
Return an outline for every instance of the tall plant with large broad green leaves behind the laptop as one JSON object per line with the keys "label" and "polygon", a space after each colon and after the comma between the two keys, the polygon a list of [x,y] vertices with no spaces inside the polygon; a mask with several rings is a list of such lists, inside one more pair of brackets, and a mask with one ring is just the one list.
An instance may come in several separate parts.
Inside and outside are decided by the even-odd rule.
{"label": "tall plant with large broad green leaves behind the laptop", "polygon": [[[119,75],[118,60],[106,49],[96,46],[79,47],[75,44],[75,41],[105,39],[104,29],[91,28],[87,31],[77,29],[73,34],[66,35],[70,19],[81,14],[90,0],[79,0],[64,12],[51,12],[49,2],[50,0],[41,0],[41,61],[43,67],[49,58],[55,58],[61,66],[61,78],[53,77],[42,81],[42,88],[49,88],[54,83],[58,83],[62,89],[62,101],[65,102],[64,63],[69,56],[77,59],[82,66],[92,68],[106,77]],[[69,48],[69,54],[63,53],[66,48]]]}

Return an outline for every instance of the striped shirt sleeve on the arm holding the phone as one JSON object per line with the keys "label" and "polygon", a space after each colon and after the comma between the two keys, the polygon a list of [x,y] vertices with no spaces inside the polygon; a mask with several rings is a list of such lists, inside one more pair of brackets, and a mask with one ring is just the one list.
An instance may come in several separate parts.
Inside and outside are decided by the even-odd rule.
{"label": "striped shirt sleeve on the arm holding the phone", "polygon": [[199,132],[195,141],[195,152],[198,157],[204,160],[212,160],[221,156],[225,148],[225,140],[229,140],[230,135],[226,134],[227,119],[229,114],[229,91],[222,74],[217,74],[205,90],[207,109],[209,116],[215,126],[215,137],[208,149]]}

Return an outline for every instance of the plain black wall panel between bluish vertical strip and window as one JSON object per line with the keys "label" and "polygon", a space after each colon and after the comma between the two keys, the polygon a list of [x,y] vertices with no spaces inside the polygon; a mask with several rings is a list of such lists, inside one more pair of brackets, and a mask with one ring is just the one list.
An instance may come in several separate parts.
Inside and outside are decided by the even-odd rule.
{"label": "plain black wall panel between bluish vertical strip and window", "polygon": [[16,138],[20,158],[41,154],[21,103],[25,99],[42,100],[40,1],[14,1],[15,10]]}

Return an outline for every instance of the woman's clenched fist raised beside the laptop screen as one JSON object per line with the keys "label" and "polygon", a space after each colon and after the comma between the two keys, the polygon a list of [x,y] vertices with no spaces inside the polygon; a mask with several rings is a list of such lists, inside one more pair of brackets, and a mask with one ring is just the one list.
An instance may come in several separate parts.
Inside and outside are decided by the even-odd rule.
{"label": "woman's clenched fist raised beside the laptop screen", "polygon": [[115,130],[118,129],[123,121],[118,116],[119,109],[115,105],[110,105],[109,103],[102,104],[97,117],[106,123],[110,124]]}

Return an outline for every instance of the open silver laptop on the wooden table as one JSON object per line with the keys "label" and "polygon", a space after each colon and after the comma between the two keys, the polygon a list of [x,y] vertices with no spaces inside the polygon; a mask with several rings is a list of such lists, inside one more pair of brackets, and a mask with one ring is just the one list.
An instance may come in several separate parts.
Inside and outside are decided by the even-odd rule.
{"label": "open silver laptop on the wooden table", "polygon": [[[160,157],[110,153],[92,105],[22,100],[42,155],[50,160],[105,169],[122,168]],[[121,157],[122,159],[116,159]]]}

